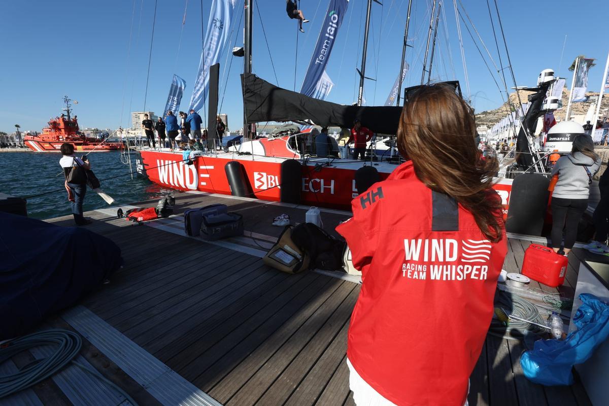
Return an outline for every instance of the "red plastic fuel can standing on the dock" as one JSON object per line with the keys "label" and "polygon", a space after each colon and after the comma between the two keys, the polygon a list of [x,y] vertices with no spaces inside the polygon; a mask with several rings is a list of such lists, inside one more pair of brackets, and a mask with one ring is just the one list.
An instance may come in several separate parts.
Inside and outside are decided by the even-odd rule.
{"label": "red plastic fuel can standing on the dock", "polygon": [[522,274],[544,285],[557,287],[565,282],[569,260],[552,248],[531,244],[524,251]]}

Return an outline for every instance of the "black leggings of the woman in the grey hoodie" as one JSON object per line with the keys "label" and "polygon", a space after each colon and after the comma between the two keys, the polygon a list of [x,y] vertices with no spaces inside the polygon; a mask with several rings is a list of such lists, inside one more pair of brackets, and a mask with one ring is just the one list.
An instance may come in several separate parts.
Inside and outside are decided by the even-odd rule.
{"label": "black leggings of the woman in the grey hoodie", "polygon": [[588,199],[552,197],[552,247],[560,248],[565,230],[565,248],[571,250],[577,238],[577,225],[588,207]]}

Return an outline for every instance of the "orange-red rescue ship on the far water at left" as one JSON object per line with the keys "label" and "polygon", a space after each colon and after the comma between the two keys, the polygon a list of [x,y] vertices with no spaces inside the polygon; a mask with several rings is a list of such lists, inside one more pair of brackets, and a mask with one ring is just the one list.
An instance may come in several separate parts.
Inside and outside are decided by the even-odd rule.
{"label": "orange-red rescue ship on the far water at left", "polygon": [[35,152],[59,152],[64,142],[74,145],[76,151],[118,151],[124,148],[121,142],[106,142],[105,139],[86,137],[79,131],[76,116],[70,116],[71,100],[63,97],[66,114],[49,121],[49,127],[42,134],[26,135],[24,143]]}

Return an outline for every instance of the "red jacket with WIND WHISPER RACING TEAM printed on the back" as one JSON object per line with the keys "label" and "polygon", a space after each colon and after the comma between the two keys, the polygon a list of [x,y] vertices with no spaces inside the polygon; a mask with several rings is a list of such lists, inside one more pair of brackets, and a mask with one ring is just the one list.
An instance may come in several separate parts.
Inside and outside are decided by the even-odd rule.
{"label": "red jacket with WIND WHISPER RACING TEAM printed on the back", "polygon": [[418,180],[410,161],[352,208],[336,228],[362,271],[348,359],[395,404],[462,406],[493,315],[505,233],[489,242],[470,212]]}

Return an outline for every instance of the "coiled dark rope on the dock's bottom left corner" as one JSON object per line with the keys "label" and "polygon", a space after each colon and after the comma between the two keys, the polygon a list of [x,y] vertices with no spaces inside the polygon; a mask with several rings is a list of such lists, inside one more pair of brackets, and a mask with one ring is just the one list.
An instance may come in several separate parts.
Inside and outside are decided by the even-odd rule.
{"label": "coiled dark rope on the dock's bottom left corner", "polygon": [[23,337],[15,338],[15,340],[10,340],[0,346],[0,364],[11,359],[14,355],[19,354],[19,352],[27,351],[38,346],[48,345],[55,347],[53,354],[49,355],[49,357],[29,363],[21,368],[18,373],[0,376],[0,399],[32,387],[38,382],[48,379],[58,373],[69,363],[73,363],[113,387],[124,396],[125,399],[131,402],[132,405],[137,405],[133,398],[114,382],[106,379],[96,370],[74,361],[74,358],[79,355],[80,348],[82,348],[82,338],[72,331],[53,329],[24,335]]}

